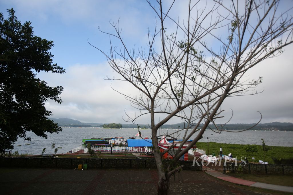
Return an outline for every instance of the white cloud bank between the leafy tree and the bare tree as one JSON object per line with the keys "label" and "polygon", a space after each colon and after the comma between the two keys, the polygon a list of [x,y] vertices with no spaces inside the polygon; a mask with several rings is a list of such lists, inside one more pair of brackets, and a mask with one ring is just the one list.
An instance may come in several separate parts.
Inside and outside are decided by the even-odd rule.
{"label": "white cloud bank between the leafy tree and the bare tree", "polygon": [[[119,120],[128,101],[124,96],[111,89],[131,90],[131,86],[122,82],[104,80],[106,75],[113,75],[107,64],[72,65],[67,72],[60,74],[40,73],[38,76],[49,86],[62,85],[62,104],[48,101],[46,107],[53,111],[54,117],[68,117],[86,122],[111,122]],[[113,119],[112,119],[113,118]]]}

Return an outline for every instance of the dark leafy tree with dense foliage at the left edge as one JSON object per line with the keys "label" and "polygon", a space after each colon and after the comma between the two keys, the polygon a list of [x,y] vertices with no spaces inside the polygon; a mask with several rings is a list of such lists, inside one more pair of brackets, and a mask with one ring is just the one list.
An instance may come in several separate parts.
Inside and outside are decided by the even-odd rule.
{"label": "dark leafy tree with dense foliage at the left edge", "polygon": [[53,41],[35,36],[31,23],[21,24],[13,9],[8,13],[7,19],[0,13],[0,152],[13,149],[18,137],[31,140],[28,131],[44,138],[62,131],[48,118],[52,112],[45,101],[61,103],[63,87],[49,87],[36,77],[41,71],[65,72],[53,63]]}

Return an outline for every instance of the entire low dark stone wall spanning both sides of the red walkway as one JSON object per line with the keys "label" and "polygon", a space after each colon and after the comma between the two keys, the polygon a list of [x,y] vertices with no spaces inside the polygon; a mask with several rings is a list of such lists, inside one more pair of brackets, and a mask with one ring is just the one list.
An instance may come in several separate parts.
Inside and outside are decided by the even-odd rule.
{"label": "entire low dark stone wall spanning both sides of the red walkway", "polygon": [[[168,163],[169,160],[164,160],[163,163]],[[1,167],[31,167],[31,168],[78,168],[79,164],[87,164],[88,169],[101,168],[156,168],[154,159],[108,159],[108,158],[32,158],[32,157],[11,157],[0,158]],[[178,161],[177,166],[184,165],[184,170],[202,170],[200,166],[193,166],[193,161]],[[231,165],[231,166],[230,166]],[[239,170],[239,164],[235,166],[228,164],[221,166],[223,172],[229,170],[236,172]],[[214,167],[208,167],[214,168]],[[260,165],[246,164],[242,166],[241,171],[244,173],[257,174],[280,174],[293,175],[292,165]]]}

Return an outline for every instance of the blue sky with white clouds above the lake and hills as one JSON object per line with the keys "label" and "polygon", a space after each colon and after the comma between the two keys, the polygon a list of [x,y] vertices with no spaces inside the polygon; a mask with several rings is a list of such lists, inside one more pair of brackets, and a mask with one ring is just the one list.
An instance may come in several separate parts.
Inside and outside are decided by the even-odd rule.
{"label": "blue sky with white clouds above the lake and hills", "polygon": [[[35,35],[54,41],[51,50],[53,62],[66,69],[66,73],[62,75],[37,75],[49,86],[64,87],[61,105],[50,100],[46,102],[46,108],[53,112],[53,118],[126,123],[123,120],[125,112],[137,112],[124,96],[111,87],[129,94],[136,94],[134,89],[125,82],[105,80],[107,76],[117,75],[111,70],[105,56],[88,42],[109,52],[109,37],[101,33],[98,27],[102,31],[113,32],[110,22],[116,23],[119,20],[123,40],[129,47],[146,45],[148,28],[153,29],[156,21],[154,11],[146,1],[0,0],[0,12],[4,14],[4,18],[8,16],[6,9],[10,8],[16,11],[16,16],[22,23],[32,23]],[[186,15],[184,4],[173,6],[170,14],[183,18]],[[292,10],[289,14],[293,15]],[[258,111],[263,116],[261,123],[293,122],[292,49],[293,45],[285,47],[281,56],[267,59],[248,72],[249,78],[263,77],[257,90],[264,91],[253,96],[226,99],[222,104],[225,120],[231,117],[233,110],[229,123],[258,122]],[[148,122],[147,116],[136,121],[140,124]],[[177,122],[181,121],[168,121],[169,124]]]}

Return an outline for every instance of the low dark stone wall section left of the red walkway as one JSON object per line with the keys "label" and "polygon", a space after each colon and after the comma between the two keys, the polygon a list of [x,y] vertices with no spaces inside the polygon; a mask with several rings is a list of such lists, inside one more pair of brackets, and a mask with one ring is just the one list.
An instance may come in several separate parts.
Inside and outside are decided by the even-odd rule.
{"label": "low dark stone wall section left of the red walkway", "polygon": [[[164,160],[168,163],[168,160]],[[88,169],[100,168],[156,168],[154,159],[107,159],[107,158],[0,158],[1,167],[31,168],[78,168],[79,164],[87,164]],[[192,166],[193,161],[179,161],[184,170],[202,170],[201,166]]]}

